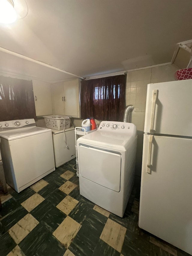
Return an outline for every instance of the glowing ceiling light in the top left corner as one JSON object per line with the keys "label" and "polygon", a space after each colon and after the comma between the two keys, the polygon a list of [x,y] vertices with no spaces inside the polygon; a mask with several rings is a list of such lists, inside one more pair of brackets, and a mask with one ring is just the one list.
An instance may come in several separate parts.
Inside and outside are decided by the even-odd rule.
{"label": "glowing ceiling light in the top left corner", "polygon": [[0,23],[13,23],[16,21],[16,11],[13,0],[0,0]]}

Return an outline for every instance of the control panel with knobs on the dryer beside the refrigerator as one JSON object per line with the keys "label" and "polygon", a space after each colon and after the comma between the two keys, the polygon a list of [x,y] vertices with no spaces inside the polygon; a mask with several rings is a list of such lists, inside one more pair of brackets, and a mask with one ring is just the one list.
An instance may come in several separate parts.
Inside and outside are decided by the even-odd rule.
{"label": "control panel with knobs on the dryer beside the refrigerator", "polygon": [[102,131],[128,131],[132,126],[135,126],[132,123],[125,122],[115,122],[115,121],[102,121],[99,125],[98,130]]}

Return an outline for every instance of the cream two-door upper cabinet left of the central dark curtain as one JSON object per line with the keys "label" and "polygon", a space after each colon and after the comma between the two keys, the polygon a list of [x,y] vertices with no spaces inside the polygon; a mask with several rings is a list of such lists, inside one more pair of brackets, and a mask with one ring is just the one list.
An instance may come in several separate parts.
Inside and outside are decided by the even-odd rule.
{"label": "cream two-door upper cabinet left of the central dark curtain", "polygon": [[80,80],[52,84],[53,112],[55,115],[81,117]]}

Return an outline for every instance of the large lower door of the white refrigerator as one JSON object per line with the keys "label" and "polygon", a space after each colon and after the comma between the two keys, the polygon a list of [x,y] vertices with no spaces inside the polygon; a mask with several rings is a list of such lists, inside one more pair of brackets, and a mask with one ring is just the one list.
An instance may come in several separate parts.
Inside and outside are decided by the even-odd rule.
{"label": "large lower door of the white refrigerator", "polygon": [[144,134],[139,227],[192,254],[192,139]]}

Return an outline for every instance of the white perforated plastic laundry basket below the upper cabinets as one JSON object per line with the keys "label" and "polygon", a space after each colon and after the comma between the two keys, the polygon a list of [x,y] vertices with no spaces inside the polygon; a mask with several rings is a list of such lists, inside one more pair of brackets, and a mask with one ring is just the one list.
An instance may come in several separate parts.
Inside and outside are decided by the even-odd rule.
{"label": "white perforated plastic laundry basket below the upper cabinets", "polygon": [[43,116],[47,128],[63,130],[70,127],[70,117],[62,115]]}

